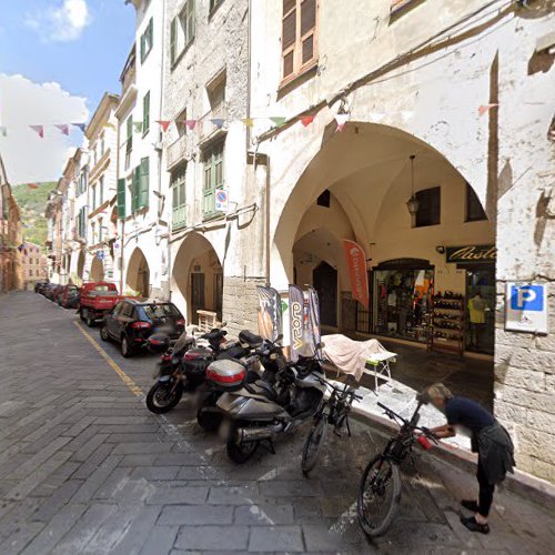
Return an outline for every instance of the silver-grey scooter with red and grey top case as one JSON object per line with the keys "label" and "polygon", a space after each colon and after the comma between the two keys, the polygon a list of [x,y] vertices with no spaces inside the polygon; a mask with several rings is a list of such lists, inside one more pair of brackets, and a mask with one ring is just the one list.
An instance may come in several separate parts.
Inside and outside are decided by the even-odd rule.
{"label": "silver-grey scooter with red and grey top case", "polygon": [[317,357],[286,364],[273,385],[236,361],[214,361],[206,375],[226,390],[216,406],[229,423],[226,452],[235,463],[246,462],[261,442],[268,442],[274,453],[273,438],[311,418],[325,393]]}

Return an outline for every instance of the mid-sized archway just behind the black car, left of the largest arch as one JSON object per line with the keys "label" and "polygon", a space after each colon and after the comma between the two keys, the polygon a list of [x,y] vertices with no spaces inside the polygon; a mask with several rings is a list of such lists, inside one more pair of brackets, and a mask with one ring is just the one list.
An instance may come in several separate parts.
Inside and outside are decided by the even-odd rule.
{"label": "mid-sized archway just behind the black car, left of the largest arch", "polygon": [[223,269],[208,239],[192,233],[183,240],[173,261],[172,278],[186,305],[189,322],[199,322],[198,311],[213,312],[221,320]]}

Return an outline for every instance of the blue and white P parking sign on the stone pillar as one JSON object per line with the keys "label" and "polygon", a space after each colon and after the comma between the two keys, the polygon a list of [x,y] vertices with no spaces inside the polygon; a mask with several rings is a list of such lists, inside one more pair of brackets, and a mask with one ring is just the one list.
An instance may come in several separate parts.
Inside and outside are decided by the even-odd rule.
{"label": "blue and white P parking sign on the stone pillar", "polygon": [[505,290],[505,330],[547,333],[547,285],[508,282]]}

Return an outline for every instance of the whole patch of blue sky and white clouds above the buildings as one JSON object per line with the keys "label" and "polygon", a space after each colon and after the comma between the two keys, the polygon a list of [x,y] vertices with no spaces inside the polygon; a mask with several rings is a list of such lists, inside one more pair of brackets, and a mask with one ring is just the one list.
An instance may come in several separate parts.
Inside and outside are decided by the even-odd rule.
{"label": "whole patch of blue sky and white clouds above the buildings", "polygon": [[87,122],[105,91],[120,92],[134,24],[124,0],[0,0],[0,157],[12,184],[60,178],[83,135],[54,125]]}

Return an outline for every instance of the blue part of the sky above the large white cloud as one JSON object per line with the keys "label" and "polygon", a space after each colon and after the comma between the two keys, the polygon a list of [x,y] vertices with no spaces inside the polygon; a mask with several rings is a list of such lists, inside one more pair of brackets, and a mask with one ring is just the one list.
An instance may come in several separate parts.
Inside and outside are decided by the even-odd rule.
{"label": "blue part of the sky above the large white cloud", "polygon": [[[38,83],[56,81],[70,94],[85,97],[93,111],[104,91],[119,92],[119,75],[134,37],[134,9],[124,0],[88,0],[81,28],[79,13],[74,26],[71,19],[49,19],[49,12],[63,4],[0,0],[0,72],[20,73]],[[65,34],[60,36],[63,28]]]}

